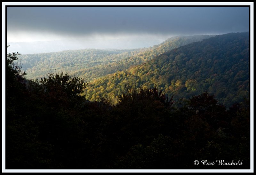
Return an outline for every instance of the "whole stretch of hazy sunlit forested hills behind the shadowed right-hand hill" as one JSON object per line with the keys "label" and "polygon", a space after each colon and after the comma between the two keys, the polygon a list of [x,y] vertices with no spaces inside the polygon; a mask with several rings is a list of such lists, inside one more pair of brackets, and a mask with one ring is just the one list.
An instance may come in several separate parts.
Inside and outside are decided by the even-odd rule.
{"label": "whole stretch of hazy sunlit forested hills behind the shadowed right-hand hill", "polygon": [[20,55],[27,78],[44,77],[48,72],[67,72],[87,81],[139,65],[159,54],[213,35],[176,36],[149,48],[126,50],[83,49]]}

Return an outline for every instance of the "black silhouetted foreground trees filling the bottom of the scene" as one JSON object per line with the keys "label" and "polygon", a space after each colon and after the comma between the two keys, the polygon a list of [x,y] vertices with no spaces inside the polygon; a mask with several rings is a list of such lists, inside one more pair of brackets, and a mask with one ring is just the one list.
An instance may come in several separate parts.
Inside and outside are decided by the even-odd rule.
{"label": "black silhouetted foreground trees filling the bottom of the scene", "polygon": [[[130,88],[116,106],[89,102],[80,95],[84,80],[63,73],[26,80],[12,56],[6,62],[6,169],[250,168],[248,99],[227,110],[207,92],[174,102],[155,87]],[[206,159],[243,165],[193,164]]]}

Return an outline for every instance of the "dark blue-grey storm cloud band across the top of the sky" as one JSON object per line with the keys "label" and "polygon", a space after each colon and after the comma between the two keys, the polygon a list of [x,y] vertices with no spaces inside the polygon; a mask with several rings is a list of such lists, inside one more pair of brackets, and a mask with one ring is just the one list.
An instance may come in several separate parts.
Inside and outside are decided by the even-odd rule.
{"label": "dark blue-grey storm cloud band across the top of the sky", "polygon": [[249,7],[7,7],[7,32],[199,34],[249,30]]}

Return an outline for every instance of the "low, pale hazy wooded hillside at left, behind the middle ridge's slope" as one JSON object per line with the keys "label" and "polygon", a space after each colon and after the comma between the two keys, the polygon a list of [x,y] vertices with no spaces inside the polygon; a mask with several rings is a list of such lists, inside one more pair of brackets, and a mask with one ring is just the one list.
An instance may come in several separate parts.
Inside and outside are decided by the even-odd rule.
{"label": "low, pale hazy wooded hillside at left, behind the middle ridge's slope", "polygon": [[[61,52],[20,55],[22,69],[28,79],[45,77],[49,72],[68,72],[77,75],[78,70],[86,71],[97,65],[106,65],[145,49],[81,49]],[[81,72],[83,73],[83,72]],[[81,76],[81,75],[78,75]]]}

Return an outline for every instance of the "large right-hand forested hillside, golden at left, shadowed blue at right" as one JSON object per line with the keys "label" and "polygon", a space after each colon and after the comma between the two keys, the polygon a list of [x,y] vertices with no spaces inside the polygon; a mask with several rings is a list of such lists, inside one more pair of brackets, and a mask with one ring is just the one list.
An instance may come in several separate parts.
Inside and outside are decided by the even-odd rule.
{"label": "large right-hand forested hillside, golden at left, shadowed blue at right", "polygon": [[249,33],[217,35],[178,47],[154,59],[91,82],[86,98],[118,103],[125,85],[162,89],[169,98],[190,98],[208,91],[230,106],[249,95]]}

